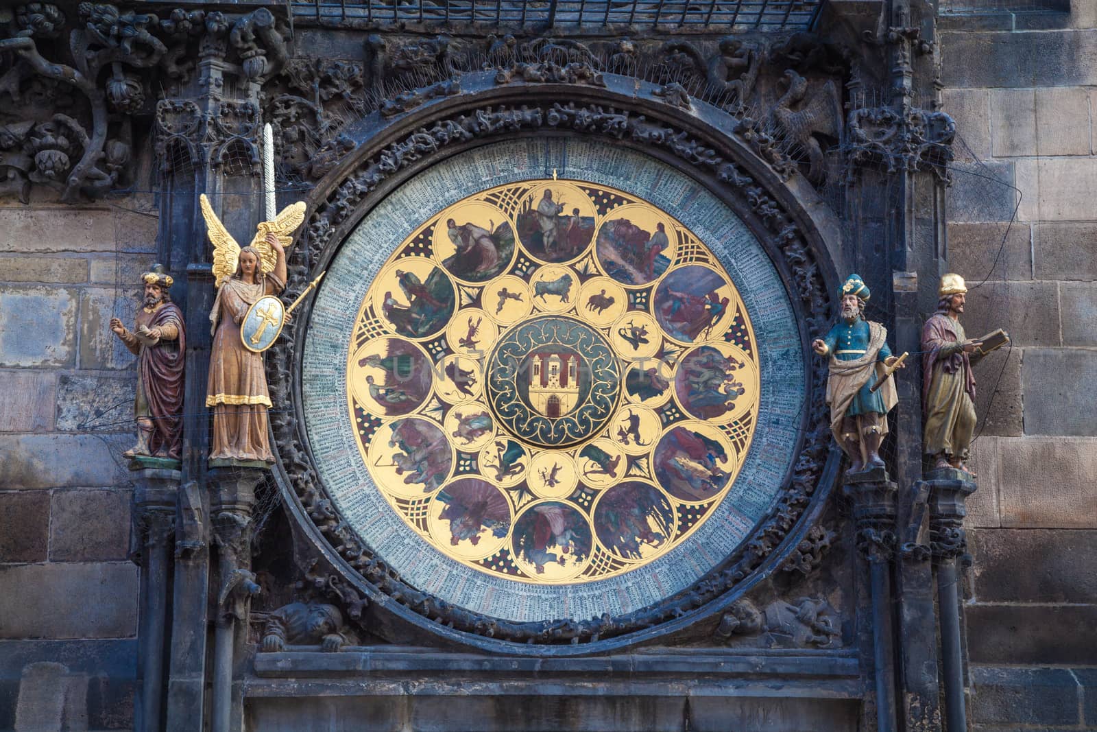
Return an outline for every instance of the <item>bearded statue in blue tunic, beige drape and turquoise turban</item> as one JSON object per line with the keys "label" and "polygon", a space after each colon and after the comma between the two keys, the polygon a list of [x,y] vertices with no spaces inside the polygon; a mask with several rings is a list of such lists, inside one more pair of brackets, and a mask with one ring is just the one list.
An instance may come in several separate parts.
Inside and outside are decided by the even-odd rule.
{"label": "bearded statue in blue tunic, beige drape and turquoise turban", "polygon": [[864,280],[850,274],[838,291],[838,322],[812,341],[816,353],[830,357],[830,431],[849,457],[848,473],[884,468],[880,443],[887,433],[887,413],[898,403],[891,371],[904,365],[887,348],[887,329],[864,319],[870,295]]}

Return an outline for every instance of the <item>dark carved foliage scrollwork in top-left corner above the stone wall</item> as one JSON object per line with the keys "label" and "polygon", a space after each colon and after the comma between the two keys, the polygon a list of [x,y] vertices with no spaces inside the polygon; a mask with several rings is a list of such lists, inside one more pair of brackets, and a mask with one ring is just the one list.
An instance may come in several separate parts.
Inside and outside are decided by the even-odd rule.
{"label": "dark carved foliage scrollwork in top-left corner above the stone wall", "polygon": [[155,66],[167,52],[149,32],[156,15],[83,2],[78,16],[66,49],[71,64],[43,56],[66,22],[54,4],[18,7],[0,38],[0,95],[10,110],[0,115],[0,168],[4,188],[24,202],[31,183],[72,202],[118,182],[131,158],[128,115],[145,101],[134,70]]}

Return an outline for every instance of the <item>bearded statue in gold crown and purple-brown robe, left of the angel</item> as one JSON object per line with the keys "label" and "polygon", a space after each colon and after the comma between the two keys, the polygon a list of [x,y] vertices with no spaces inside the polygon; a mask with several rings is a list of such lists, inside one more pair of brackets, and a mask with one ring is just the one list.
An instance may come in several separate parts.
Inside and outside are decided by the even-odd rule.
{"label": "bearded statue in gold crown and purple-brown robe, left of the angel", "polygon": [[143,300],[129,330],[111,318],[111,330],[137,357],[134,417],[137,443],[124,458],[179,460],[183,442],[183,314],[171,302],[171,275],[162,264],[142,274]]}

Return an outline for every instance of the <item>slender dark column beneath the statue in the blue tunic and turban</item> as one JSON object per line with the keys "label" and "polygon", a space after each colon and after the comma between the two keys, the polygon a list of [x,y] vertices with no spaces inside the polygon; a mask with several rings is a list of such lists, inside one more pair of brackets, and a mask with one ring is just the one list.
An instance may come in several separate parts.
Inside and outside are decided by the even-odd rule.
{"label": "slender dark column beneath the statue in the blue tunic and turban", "polygon": [[846,475],[842,485],[842,495],[852,504],[858,554],[868,563],[878,732],[896,729],[891,560],[895,550],[897,493],[898,486],[883,470]]}

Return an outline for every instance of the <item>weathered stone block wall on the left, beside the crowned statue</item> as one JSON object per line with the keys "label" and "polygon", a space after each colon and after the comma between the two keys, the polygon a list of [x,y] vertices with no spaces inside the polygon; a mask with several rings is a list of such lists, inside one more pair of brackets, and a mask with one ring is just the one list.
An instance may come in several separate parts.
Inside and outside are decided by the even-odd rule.
{"label": "weathered stone block wall on the left, beside the crowned statue", "polygon": [[0,730],[133,724],[134,373],[108,323],[156,228],[149,198],[0,201]]}

